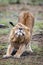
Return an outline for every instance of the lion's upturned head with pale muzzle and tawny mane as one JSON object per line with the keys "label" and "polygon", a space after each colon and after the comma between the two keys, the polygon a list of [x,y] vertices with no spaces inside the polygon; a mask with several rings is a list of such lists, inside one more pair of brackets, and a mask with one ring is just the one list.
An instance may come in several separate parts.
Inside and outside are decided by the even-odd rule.
{"label": "lion's upturned head with pale muzzle and tawny mane", "polygon": [[30,40],[30,31],[29,28],[25,25],[18,23],[15,27],[13,27],[10,33],[10,41],[13,43],[24,43]]}

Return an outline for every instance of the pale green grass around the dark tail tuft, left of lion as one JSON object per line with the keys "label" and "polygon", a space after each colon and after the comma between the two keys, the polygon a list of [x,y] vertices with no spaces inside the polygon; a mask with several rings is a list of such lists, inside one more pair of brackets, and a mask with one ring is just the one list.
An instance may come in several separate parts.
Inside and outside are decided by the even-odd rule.
{"label": "pale green grass around the dark tail tuft, left of lion", "polygon": [[13,20],[12,19],[9,19],[9,20],[1,19],[0,24],[4,24],[5,26],[8,26],[9,28],[5,28],[5,29],[0,28],[0,34],[8,34],[10,32],[12,26],[9,24],[9,21],[12,21],[14,25],[17,23],[17,20],[15,20],[15,19],[13,19]]}

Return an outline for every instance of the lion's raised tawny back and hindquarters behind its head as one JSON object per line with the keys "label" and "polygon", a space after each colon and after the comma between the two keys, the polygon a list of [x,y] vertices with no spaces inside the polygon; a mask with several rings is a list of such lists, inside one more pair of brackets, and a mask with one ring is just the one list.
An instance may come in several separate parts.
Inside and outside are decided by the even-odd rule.
{"label": "lion's raised tawny back and hindquarters behind its head", "polygon": [[28,11],[22,11],[19,15],[19,23],[24,24],[28,28],[30,28],[30,31],[32,33],[32,29],[34,26],[34,16],[28,12]]}

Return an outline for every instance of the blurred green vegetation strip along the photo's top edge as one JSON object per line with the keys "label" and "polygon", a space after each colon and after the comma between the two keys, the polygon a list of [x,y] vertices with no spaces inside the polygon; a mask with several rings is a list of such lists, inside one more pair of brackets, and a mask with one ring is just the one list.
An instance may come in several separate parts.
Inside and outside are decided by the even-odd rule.
{"label": "blurred green vegetation strip along the photo's top edge", "polygon": [[[23,3],[25,3],[25,0],[0,0],[0,3],[1,4],[14,4],[14,3],[21,3],[21,1],[23,2]],[[35,5],[35,4],[43,4],[43,0],[27,0],[27,3],[29,3],[29,4],[33,4],[33,5]]]}

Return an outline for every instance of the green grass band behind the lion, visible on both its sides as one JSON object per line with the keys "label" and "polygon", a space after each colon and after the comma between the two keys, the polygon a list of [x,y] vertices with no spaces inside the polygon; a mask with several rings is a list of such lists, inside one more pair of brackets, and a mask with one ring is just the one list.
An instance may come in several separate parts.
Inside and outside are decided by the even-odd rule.
{"label": "green grass band behind the lion, visible on both its sides", "polygon": [[[9,21],[10,21],[10,19],[9,19]],[[10,28],[6,28],[6,29],[0,29],[0,34],[8,34],[9,33],[9,29],[11,29],[12,27],[9,25],[9,21],[7,21],[7,19],[1,19],[1,21],[0,21],[0,24],[5,24],[6,26],[9,26]],[[13,19],[13,20],[11,20],[13,23],[14,23],[14,25],[17,23],[17,20],[15,19]],[[43,22],[35,22],[35,24],[34,24],[34,29],[33,29],[33,32],[37,32],[37,31],[39,31],[39,30],[42,30],[43,29]]]}

